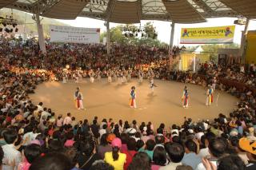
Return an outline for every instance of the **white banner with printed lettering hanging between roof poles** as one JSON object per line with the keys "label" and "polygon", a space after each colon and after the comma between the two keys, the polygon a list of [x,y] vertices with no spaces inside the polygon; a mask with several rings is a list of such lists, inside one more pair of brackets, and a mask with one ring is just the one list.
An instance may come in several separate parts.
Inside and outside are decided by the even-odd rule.
{"label": "white banner with printed lettering hanging between roof poles", "polygon": [[50,42],[99,43],[100,29],[50,26]]}

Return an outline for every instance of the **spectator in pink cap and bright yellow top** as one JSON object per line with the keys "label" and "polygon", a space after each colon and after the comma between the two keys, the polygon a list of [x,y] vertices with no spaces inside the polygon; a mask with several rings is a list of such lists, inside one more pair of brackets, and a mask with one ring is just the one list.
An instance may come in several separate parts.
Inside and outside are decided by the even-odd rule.
{"label": "spectator in pink cap and bright yellow top", "polygon": [[112,152],[105,153],[105,161],[114,166],[115,170],[123,170],[126,163],[126,154],[120,152],[122,141],[116,137],[111,143]]}

